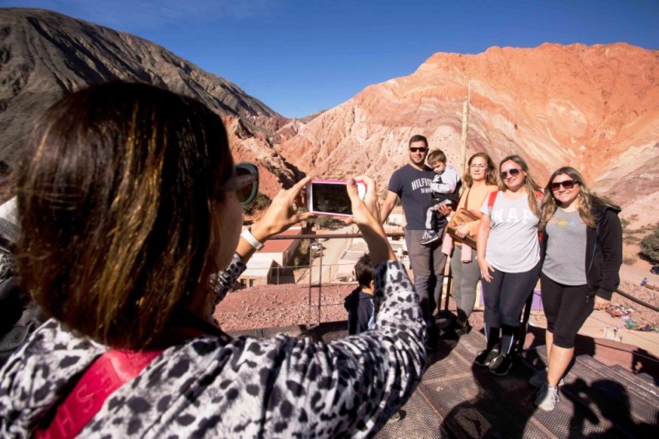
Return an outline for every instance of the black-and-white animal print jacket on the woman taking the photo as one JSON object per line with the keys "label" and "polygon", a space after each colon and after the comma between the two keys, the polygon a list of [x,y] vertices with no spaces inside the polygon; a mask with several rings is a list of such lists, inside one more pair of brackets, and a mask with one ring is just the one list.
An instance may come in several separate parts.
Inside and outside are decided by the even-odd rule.
{"label": "black-and-white animal print jacket on the woman taking the photo", "polygon": [[[219,302],[244,271],[219,276]],[[398,262],[375,269],[376,328],[328,344],[199,336],[167,348],[119,388],[85,438],[329,438],[373,436],[424,369],[424,323]],[[57,321],[43,324],[0,371],[0,437],[26,438],[107,348]]]}

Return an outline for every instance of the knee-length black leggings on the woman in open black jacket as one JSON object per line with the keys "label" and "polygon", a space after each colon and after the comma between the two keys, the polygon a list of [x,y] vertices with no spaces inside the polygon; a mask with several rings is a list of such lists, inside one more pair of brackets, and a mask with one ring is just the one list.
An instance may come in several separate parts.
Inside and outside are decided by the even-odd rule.
{"label": "knee-length black leggings on the woman in open black jacket", "polygon": [[595,297],[588,294],[587,285],[563,285],[540,275],[542,307],[547,318],[547,330],[554,334],[554,346],[571,349],[575,337],[595,306]]}

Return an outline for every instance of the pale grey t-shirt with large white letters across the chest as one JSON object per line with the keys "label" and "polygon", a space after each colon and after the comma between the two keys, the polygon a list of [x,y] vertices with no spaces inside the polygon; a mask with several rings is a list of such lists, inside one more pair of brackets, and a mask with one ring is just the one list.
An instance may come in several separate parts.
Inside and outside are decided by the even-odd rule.
{"label": "pale grey t-shirt with large white letters across the chest", "polygon": [[529,271],[540,261],[538,217],[529,209],[525,195],[507,199],[499,191],[492,211],[485,199],[480,212],[490,217],[490,236],[485,260],[495,269],[509,273]]}

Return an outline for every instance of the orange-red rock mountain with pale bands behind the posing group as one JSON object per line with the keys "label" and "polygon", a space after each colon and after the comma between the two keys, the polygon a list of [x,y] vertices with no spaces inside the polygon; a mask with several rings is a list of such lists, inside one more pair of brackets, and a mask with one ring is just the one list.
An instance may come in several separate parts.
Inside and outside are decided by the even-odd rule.
{"label": "orange-red rock mountain with pale bands behind the posing group", "polygon": [[384,193],[413,134],[457,163],[470,79],[467,157],[519,153],[542,185],[571,165],[623,205],[657,193],[659,51],[624,43],[437,53],[314,118],[277,149],[304,172],[376,176]]}

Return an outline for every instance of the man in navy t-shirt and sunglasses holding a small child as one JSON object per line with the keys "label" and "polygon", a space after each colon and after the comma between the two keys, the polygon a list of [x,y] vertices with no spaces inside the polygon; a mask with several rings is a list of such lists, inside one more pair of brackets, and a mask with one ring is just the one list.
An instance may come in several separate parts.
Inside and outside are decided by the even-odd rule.
{"label": "man in navy t-shirt and sunglasses holding a small child", "polygon": [[407,252],[414,274],[416,293],[420,298],[421,309],[428,328],[426,348],[437,349],[440,331],[432,314],[442,297],[442,287],[444,286],[446,255],[442,253],[442,239],[444,238],[446,215],[449,215],[451,209],[446,206],[440,208],[444,222],[438,224],[440,240],[427,246],[419,244],[426,231],[426,207],[432,201],[430,183],[435,176],[435,172],[425,164],[426,155],[428,155],[428,140],[419,134],[412,136],[409,141],[409,163],[391,174],[389,192],[382,204],[380,217],[382,220],[386,220],[396,199],[401,198],[407,221],[405,226]]}

